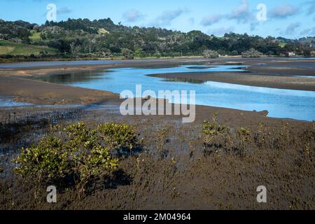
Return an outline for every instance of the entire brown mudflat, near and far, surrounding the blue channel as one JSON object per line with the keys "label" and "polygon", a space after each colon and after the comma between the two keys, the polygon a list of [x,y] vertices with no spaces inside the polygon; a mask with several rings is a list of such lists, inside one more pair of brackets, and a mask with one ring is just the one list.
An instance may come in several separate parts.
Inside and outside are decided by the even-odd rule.
{"label": "entire brown mudflat, near and far, surrounding the blue channel", "polygon": [[[75,75],[76,71],[123,66],[245,64],[247,73],[159,76],[193,79],[200,76],[200,80],[212,78],[227,83],[314,90],[311,78],[290,77],[298,75],[301,69],[305,71],[299,73],[301,76],[311,76],[314,62],[297,59],[293,62],[295,68],[290,69],[287,61],[140,60],[126,64],[2,69],[0,96],[15,97],[16,101],[31,102],[34,106],[0,108],[0,165],[3,167],[0,209],[314,209],[314,123],[269,118],[267,111],[211,106],[196,106],[196,120],[190,124],[182,124],[182,116],[122,116],[121,100],[116,94],[30,79],[51,73],[71,71]],[[218,115],[220,125],[228,127],[228,134],[207,142],[202,125],[204,120],[214,122],[214,114]],[[17,155],[18,148],[31,146],[43,134],[49,134],[50,125],[64,127],[78,121],[88,127],[101,123],[131,124],[143,140],[142,151],[120,160],[119,169],[106,181],[93,183],[80,200],[75,188],[66,188],[60,191],[56,204],[38,203],[45,202],[46,188],[34,199],[34,186],[13,174],[10,159]],[[244,132],[249,133],[245,139],[239,134]],[[255,201],[256,189],[261,185],[268,190],[267,204]]]}

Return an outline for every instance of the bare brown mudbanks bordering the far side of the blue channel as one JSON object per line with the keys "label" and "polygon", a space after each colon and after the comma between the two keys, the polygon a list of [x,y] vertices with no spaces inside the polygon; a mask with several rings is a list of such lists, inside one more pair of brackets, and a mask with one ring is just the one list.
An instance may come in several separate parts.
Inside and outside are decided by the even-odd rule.
{"label": "bare brown mudbanks bordering the far side of the blue channel", "polygon": [[158,74],[160,78],[172,78],[175,80],[207,80],[234,83],[241,85],[253,85],[261,87],[274,87],[290,90],[315,90],[315,78],[291,77],[314,76],[314,60],[312,59],[288,59],[288,58],[219,58],[219,59],[139,59],[126,61],[87,61],[80,62],[48,62],[8,64],[5,67],[0,64],[0,96],[15,97],[18,102],[30,102],[33,104],[91,104],[94,102],[106,102],[109,99],[118,99],[116,94],[105,91],[87,90],[68,85],[43,83],[29,78],[50,74],[80,73],[82,71],[97,71],[99,69],[111,69],[118,67],[158,68],[167,66],[179,66],[183,64],[207,64],[216,66],[248,65],[246,73],[172,73]]}

